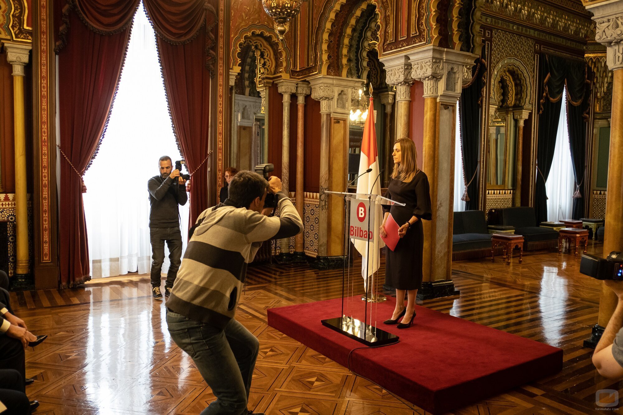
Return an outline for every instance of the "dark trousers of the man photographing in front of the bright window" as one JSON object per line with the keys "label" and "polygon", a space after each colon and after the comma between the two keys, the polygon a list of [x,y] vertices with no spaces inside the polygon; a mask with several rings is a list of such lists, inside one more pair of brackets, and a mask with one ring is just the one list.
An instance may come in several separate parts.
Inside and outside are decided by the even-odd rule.
{"label": "dark trousers of the man photographing in front of the bright window", "polygon": [[151,287],[160,287],[160,271],[164,262],[164,242],[169,247],[169,272],[165,287],[173,287],[182,263],[182,232],[179,227],[150,227],[151,239]]}

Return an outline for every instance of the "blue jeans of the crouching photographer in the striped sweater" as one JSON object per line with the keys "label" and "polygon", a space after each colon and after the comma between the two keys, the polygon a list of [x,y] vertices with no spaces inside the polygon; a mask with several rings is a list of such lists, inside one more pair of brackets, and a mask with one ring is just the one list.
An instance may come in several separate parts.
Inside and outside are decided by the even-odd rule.
{"label": "blue jeans of the crouching photographer in the striped sweater", "polygon": [[212,388],[216,401],[201,415],[244,415],[260,343],[232,318],[224,330],[171,310],[166,322],[175,344],[186,351]]}

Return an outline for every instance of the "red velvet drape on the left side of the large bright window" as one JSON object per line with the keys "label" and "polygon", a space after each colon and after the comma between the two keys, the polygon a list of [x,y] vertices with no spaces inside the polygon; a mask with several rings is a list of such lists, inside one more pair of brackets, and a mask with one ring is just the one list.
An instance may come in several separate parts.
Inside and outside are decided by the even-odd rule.
{"label": "red velvet drape on the left side of the large bright window", "polygon": [[[138,0],[79,0],[72,4],[62,10],[57,42],[62,151],[60,288],[75,287],[91,279],[82,175],[105,131]],[[80,9],[76,4],[90,7]],[[85,10],[89,18],[99,18],[88,21],[82,14]]]}

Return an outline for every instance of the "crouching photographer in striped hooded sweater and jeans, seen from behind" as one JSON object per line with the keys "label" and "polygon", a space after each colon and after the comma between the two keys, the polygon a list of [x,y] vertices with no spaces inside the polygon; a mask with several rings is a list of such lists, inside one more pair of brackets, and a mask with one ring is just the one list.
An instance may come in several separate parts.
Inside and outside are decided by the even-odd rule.
{"label": "crouching photographer in striped hooded sweater and jeans, seen from behind", "polygon": [[[275,194],[280,217],[264,209]],[[272,210],[272,209],[271,209]],[[263,241],[303,231],[303,222],[275,176],[266,181],[240,171],[224,203],[197,219],[171,296],[166,302],[169,333],[193,358],[216,401],[202,414],[247,414],[259,342],[234,319],[251,262]]]}

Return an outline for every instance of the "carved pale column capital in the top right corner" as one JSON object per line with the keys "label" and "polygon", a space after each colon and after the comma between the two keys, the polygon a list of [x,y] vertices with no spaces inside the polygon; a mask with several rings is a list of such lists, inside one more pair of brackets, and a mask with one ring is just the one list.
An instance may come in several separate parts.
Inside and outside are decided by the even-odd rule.
{"label": "carved pale column capital in the top right corner", "polygon": [[610,70],[623,69],[623,0],[586,4],[596,23],[595,40],[606,45]]}

